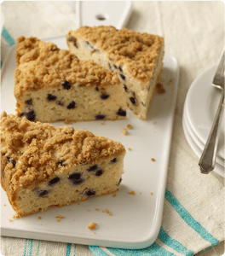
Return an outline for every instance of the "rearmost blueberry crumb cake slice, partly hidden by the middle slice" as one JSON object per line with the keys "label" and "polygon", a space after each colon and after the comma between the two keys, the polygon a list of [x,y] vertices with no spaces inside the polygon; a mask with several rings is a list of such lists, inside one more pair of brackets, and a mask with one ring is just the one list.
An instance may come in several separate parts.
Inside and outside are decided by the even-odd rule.
{"label": "rearmost blueberry crumb cake slice, partly hidden by the middle slice", "polygon": [[81,26],[66,35],[70,51],[80,60],[94,60],[118,73],[129,108],[147,119],[163,66],[164,38],[113,26]]}

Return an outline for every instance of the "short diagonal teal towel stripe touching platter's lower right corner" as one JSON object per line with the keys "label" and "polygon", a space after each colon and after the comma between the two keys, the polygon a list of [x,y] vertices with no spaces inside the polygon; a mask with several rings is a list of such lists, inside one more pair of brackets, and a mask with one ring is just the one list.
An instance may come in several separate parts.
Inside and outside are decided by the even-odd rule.
{"label": "short diagonal teal towel stripe touching platter's lower right corner", "polygon": [[161,227],[159,230],[159,240],[162,241],[168,247],[173,248],[177,253],[182,253],[186,256],[193,255],[193,251],[187,250],[179,241],[172,239]]}

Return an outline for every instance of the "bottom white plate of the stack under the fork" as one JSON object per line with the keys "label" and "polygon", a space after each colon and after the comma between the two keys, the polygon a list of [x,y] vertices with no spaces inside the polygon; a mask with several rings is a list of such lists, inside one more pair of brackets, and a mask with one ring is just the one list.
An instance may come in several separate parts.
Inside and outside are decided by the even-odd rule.
{"label": "bottom white plate of the stack under the fork", "polygon": [[[194,142],[193,137],[190,135],[189,128],[188,128],[188,125],[187,125],[187,120],[185,119],[184,115],[183,115],[183,118],[182,118],[182,126],[183,126],[184,135],[187,139],[187,143],[193,149],[193,152],[200,158],[200,156],[202,154],[202,150]],[[196,164],[196,166],[198,166],[198,164]],[[200,170],[199,170],[199,172],[200,172]],[[216,172],[217,174],[219,174],[222,177],[225,177],[224,163],[223,163],[223,165],[220,165],[218,162],[216,162],[214,172]]]}

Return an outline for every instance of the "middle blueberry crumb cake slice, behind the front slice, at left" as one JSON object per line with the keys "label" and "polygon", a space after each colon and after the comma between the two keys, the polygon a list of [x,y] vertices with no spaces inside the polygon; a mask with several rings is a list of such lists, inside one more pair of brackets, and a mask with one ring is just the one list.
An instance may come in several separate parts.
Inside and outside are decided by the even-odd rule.
{"label": "middle blueberry crumb cake slice, behind the front slice, at left", "polygon": [[123,84],[116,73],[92,60],[79,61],[66,49],[38,38],[16,45],[16,110],[41,122],[124,119]]}

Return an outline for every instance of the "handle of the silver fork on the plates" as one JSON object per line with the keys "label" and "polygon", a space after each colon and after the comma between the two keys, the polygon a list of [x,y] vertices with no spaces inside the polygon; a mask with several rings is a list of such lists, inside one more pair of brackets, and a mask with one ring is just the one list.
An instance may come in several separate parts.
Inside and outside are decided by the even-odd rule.
{"label": "handle of the silver fork on the plates", "polygon": [[215,168],[216,164],[216,152],[219,141],[219,131],[222,120],[222,113],[224,108],[224,90],[222,90],[222,96],[218,110],[216,112],[216,117],[211,127],[211,132],[205,143],[205,148],[199,160],[199,168],[201,173],[208,174]]}

